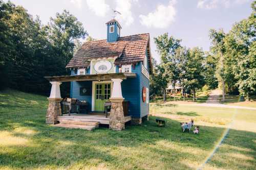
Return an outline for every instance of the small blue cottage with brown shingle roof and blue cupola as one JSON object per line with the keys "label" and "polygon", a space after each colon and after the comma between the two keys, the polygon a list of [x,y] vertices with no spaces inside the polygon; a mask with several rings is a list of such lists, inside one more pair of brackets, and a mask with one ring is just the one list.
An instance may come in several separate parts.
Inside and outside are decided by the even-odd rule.
{"label": "small blue cottage with brown shingle roof and blue cupola", "polygon": [[86,101],[90,115],[103,112],[110,102],[107,124],[115,130],[124,129],[129,120],[141,124],[148,115],[152,72],[150,35],[121,37],[120,31],[117,20],[106,22],[106,39],[84,42],[66,66],[71,76],[47,78],[70,81],[71,98]]}

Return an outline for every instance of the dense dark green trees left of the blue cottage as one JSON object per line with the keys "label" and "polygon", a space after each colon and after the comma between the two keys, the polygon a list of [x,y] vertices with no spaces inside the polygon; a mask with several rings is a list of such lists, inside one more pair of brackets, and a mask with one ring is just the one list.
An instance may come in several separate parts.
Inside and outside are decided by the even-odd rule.
{"label": "dense dark green trees left of the blue cottage", "polygon": [[[75,40],[84,38],[82,23],[64,10],[42,25],[22,6],[0,1],[0,88],[49,93],[45,76],[67,75]],[[62,90],[68,90],[69,84]]]}

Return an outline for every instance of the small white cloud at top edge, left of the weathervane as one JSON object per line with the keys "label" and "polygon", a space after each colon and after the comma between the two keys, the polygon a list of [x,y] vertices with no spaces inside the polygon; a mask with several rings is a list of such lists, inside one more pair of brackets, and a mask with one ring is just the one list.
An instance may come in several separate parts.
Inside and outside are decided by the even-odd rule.
{"label": "small white cloud at top edge, left of the weathervane", "polygon": [[110,6],[105,3],[105,0],[87,0],[86,2],[89,9],[97,16],[105,16],[110,10]]}

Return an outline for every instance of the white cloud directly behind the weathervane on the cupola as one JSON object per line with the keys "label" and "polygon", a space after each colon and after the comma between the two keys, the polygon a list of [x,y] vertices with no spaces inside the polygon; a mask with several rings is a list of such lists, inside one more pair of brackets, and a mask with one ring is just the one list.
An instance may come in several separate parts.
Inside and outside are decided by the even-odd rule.
{"label": "white cloud directly behind the weathervane on the cupola", "polygon": [[137,0],[116,0],[116,10],[121,13],[117,14],[116,19],[123,22],[126,26],[130,26],[134,22],[132,15],[132,2],[137,3]]}

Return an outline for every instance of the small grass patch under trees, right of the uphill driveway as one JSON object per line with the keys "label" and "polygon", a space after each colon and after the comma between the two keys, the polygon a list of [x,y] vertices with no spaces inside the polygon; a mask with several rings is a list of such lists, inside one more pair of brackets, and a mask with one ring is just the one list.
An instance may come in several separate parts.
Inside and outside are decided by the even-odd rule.
{"label": "small grass patch under trees, right of the uphill driveway", "polygon": [[256,95],[252,95],[250,96],[250,98],[251,98],[250,101],[246,102],[243,99],[241,99],[239,95],[227,94],[225,95],[225,101],[221,101],[222,95],[220,96],[219,100],[220,100],[220,103],[226,104],[226,105],[256,108]]}

